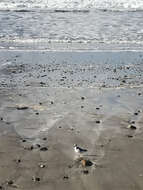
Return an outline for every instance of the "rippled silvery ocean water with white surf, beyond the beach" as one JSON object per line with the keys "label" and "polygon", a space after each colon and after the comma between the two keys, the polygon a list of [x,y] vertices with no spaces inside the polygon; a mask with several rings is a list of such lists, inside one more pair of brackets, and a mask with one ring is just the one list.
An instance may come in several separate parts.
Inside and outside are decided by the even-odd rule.
{"label": "rippled silvery ocean water with white surf, beyond the beach", "polygon": [[1,0],[0,48],[142,50],[143,0]]}

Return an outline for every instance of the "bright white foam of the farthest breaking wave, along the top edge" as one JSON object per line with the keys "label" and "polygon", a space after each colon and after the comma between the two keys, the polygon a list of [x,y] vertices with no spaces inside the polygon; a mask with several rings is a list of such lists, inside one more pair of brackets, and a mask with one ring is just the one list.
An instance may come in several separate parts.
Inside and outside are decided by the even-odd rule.
{"label": "bright white foam of the farthest breaking wave, along the top edge", "polygon": [[143,10],[143,0],[1,0],[0,9]]}

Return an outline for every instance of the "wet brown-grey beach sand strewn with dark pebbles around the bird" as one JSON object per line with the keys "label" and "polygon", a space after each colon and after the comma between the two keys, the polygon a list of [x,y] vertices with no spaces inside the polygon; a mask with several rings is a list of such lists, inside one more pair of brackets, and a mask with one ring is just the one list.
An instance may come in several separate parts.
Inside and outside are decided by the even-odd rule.
{"label": "wet brown-grey beach sand strewn with dark pebbles around the bird", "polygon": [[[1,56],[0,187],[143,189],[142,55],[132,66],[128,55],[116,64],[105,55],[99,65],[95,56],[89,69],[91,55],[55,66],[42,52],[24,54]],[[75,153],[74,144],[87,151]]]}

